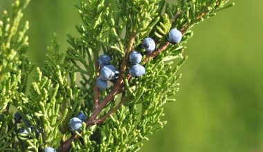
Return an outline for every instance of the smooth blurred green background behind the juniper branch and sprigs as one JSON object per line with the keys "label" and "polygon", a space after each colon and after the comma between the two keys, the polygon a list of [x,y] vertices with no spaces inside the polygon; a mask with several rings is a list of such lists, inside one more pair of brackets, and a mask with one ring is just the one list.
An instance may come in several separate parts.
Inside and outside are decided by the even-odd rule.
{"label": "smooth blurred green background behind the juniper branch and sprigs", "polygon": [[[80,22],[73,0],[31,1],[28,55],[41,66],[53,32],[66,49],[66,32]],[[195,27],[181,69],[177,101],[165,106],[165,128],[141,151],[263,151],[263,1],[236,0]],[[10,8],[0,0],[0,10]]]}

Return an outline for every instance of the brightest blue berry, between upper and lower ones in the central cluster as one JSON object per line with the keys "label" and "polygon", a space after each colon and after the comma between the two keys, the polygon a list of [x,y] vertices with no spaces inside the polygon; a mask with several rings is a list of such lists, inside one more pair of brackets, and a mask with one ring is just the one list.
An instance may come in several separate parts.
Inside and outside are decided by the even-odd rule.
{"label": "brightest blue berry, between upper and lower ones in the central cluster", "polygon": [[100,69],[100,79],[102,80],[109,80],[114,79],[114,75],[116,73],[116,69],[112,65],[103,66],[103,68]]}

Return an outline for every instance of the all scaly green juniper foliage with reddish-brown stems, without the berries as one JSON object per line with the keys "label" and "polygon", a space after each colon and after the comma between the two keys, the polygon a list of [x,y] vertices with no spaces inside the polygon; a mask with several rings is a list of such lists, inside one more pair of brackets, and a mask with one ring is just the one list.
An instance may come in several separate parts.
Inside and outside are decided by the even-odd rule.
{"label": "all scaly green juniper foliage with reddish-brown stems, without the berries", "polygon": [[[68,34],[66,53],[60,51],[54,37],[44,67],[35,68],[25,56],[28,22],[19,26],[28,2],[15,1],[10,18],[5,11],[0,21],[2,151],[38,151],[47,146],[60,146],[64,151],[66,143],[69,148],[72,145],[72,151],[138,151],[148,135],[166,124],[161,120],[163,105],[174,102],[172,97],[179,91],[178,70],[187,59],[183,45],[192,37],[189,28],[228,8],[228,0],[180,0],[174,4],[165,0],[115,0],[111,4],[82,0],[76,5],[82,19],[76,26],[80,37]],[[171,28],[183,32],[180,44],[166,43]],[[148,36],[156,40],[159,54],[143,52],[140,43]],[[131,49],[144,55],[145,76],[129,77]],[[97,60],[104,53],[111,56],[111,64],[121,75],[106,91],[98,92]],[[34,81],[28,83],[33,70]],[[19,111],[21,124],[12,120],[10,106]],[[82,123],[82,131],[71,133],[69,120],[80,111],[89,119]],[[28,134],[19,133],[20,128]]]}

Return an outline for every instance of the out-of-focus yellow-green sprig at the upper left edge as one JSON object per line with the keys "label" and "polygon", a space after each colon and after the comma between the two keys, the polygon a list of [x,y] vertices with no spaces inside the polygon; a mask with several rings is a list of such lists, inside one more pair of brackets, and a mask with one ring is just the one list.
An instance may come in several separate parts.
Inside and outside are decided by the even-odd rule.
{"label": "out-of-focus yellow-green sprig at the upper left edge", "polygon": [[[12,4],[10,15],[5,10],[0,21],[0,81],[5,77],[6,73],[15,70],[21,61],[19,55],[26,52],[24,49],[28,46],[28,22],[23,26],[19,26],[23,13],[21,12],[28,5],[27,1],[16,1]],[[17,31],[19,30],[19,32]],[[19,54],[19,55],[17,55]]]}

